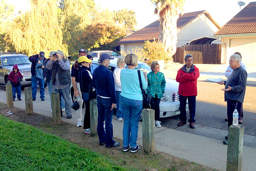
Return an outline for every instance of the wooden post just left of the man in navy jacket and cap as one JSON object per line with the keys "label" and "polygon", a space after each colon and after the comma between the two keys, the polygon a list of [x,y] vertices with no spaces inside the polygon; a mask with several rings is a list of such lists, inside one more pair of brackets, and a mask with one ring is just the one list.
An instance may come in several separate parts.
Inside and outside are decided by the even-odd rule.
{"label": "wooden post just left of the man in navy jacket and cap", "polygon": [[90,100],[90,125],[91,125],[91,136],[97,135],[97,125],[98,125],[98,108],[97,100]]}

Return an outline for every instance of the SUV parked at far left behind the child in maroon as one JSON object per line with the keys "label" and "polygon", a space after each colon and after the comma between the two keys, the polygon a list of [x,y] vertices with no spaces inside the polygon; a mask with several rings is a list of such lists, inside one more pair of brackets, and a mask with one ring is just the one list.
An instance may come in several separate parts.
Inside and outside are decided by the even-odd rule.
{"label": "SUV parked at far left behind the child in maroon", "polygon": [[8,75],[15,64],[23,75],[21,86],[31,85],[31,62],[28,56],[21,54],[0,54],[0,85],[10,83]]}

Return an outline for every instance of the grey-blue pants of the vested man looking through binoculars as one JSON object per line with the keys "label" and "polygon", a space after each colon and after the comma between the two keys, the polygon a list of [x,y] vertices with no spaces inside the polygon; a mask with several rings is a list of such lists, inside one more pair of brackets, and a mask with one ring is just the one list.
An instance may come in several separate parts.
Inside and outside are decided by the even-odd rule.
{"label": "grey-blue pants of the vested man looking through binoculars", "polygon": [[[70,99],[70,84],[68,85],[68,87],[64,88],[64,89],[54,89],[54,92],[59,93],[60,95],[60,101],[61,101],[61,96],[63,97],[64,101],[65,101],[65,112],[66,115],[70,116],[72,115],[71,113],[71,99]],[[60,113],[62,114],[62,109],[61,109],[61,105],[60,105]]]}

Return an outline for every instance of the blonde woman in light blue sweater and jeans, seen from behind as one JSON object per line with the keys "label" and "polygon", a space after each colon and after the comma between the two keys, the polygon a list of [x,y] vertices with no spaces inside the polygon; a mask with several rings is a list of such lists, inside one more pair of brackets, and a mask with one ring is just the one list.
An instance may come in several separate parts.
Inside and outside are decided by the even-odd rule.
{"label": "blonde woman in light blue sweater and jeans, seen from behind", "polygon": [[120,80],[122,83],[121,108],[124,115],[123,127],[123,151],[131,149],[131,153],[140,150],[136,141],[138,138],[138,123],[142,112],[142,92],[140,89],[139,76],[142,81],[142,88],[147,89],[147,75],[142,71],[135,70],[138,66],[138,57],[135,54],[126,55],[124,62],[128,68],[121,70]]}

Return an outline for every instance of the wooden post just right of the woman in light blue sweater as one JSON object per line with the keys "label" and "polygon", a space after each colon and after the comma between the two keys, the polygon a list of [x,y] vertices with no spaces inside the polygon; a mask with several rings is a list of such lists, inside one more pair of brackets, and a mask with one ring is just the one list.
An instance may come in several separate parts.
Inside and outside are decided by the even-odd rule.
{"label": "wooden post just right of the woman in light blue sweater", "polygon": [[145,153],[152,154],[155,151],[154,136],[155,111],[153,109],[142,110],[142,147]]}

